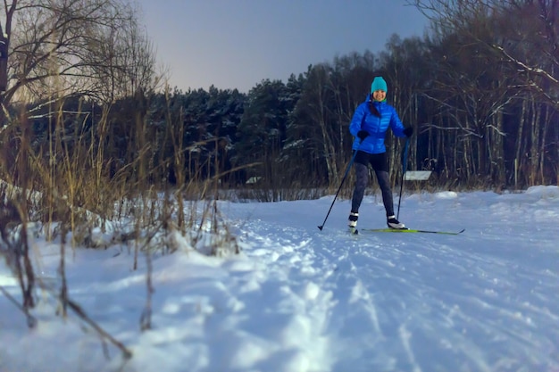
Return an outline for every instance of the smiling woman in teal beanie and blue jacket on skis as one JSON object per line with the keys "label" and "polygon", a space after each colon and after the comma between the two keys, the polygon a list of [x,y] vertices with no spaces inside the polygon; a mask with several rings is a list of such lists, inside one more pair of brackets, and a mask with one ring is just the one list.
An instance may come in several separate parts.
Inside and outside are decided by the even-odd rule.
{"label": "smiling woman in teal beanie and blue jacket on skis", "polygon": [[355,233],[359,206],[363,201],[363,194],[367,186],[368,169],[371,164],[379,181],[382,192],[382,203],[387,212],[387,224],[390,228],[405,228],[405,225],[396,219],[394,202],[390,189],[388,176],[388,156],[384,145],[384,138],[388,127],[395,136],[412,136],[413,128],[405,128],[398,118],[396,109],[386,103],[387,82],[381,77],[372,80],[371,94],[367,95],[365,102],[361,103],[354,112],[354,117],[349,124],[349,131],[355,136],[353,150],[355,154],[355,189],[349,213],[349,229]]}

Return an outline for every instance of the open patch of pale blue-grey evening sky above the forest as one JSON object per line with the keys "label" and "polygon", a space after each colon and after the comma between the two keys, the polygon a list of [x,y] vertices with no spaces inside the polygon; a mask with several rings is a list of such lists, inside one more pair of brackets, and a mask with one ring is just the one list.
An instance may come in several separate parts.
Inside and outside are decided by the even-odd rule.
{"label": "open patch of pale blue-grey evening sky above the forest", "polygon": [[287,82],[336,55],[378,53],[393,33],[422,36],[428,21],[405,0],[137,0],[171,87]]}

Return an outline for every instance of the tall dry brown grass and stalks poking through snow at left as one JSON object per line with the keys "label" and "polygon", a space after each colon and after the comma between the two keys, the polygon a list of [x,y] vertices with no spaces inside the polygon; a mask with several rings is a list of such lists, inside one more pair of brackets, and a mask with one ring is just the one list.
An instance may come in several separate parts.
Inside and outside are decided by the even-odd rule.
{"label": "tall dry brown grass and stalks poking through snow at left", "polygon": [[[125,244],[131,248],[134,269],[140,258],[145,259],[147,295],[139,327],[146,330],[151,327],[154,254],[196,249],[223,256],[236,254],[240,248],[217,208],[218,177],[189,177],[182,167],[185,150],[179,141],[173,142],[171,160],[155,161],[158,144],[148,136],[146,116],[138,113],[127,144],[127,151],[135,156],[115,168],[115,160],[107,156],[118,145],[109,136],[110,107],[95,130],[86,130],[79,121],[88,116],[81,110],[73,113],[71,122],[63,102],[53,105],[46,141],[38,140],[25,110],[0,131],[0,257],[20,283],[22,302],[10,299],[29,327],[37,323],[31,310],[40,290],[60,303],[59,315],[71,312],[84,327],[95,330],[104,348],[111,343],[128,360],[132,354],[126,346],[69,297],[66,250]],[[167,125],[165,135],[181,137],[175,132],[180,126],[173,124]],[[154,181],[154,173],[161,174],[171,165],[177,169],[178,186]],[[37,257],[29,249],[29,239],[37,234],[60,242],[60,277],[55,286],[36,276],[33,262]]]}

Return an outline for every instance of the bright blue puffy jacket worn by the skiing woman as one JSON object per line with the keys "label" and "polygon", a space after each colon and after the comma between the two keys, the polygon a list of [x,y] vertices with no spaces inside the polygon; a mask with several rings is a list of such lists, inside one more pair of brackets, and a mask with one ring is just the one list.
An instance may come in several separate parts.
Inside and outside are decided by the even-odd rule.
{"label": "bright blue puffy jacket worn by the skiing woman", "polygon": [[[377,110],[380,112],[380,118],[371,114],[369,111],[369,101],[371,95],[367,95],[365,102],[357,106],[354,117],[349,124],[349,132],[355,136],[354,150],[360,150],[365,153],[386,153],[387,148],[384,145],[384,137],[388,127],[392,129],[395,136],[405,136],[404,124],[398,117],[396,109],[386,102],[373,102]],[[357,132],[366,130],[369,133],[363,140],[357,136]]]}

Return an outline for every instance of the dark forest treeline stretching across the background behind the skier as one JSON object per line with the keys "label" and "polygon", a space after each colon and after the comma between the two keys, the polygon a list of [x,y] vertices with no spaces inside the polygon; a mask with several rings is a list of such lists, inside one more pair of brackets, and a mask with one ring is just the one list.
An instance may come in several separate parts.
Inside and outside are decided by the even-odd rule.
{"label": "dark forest treeline stretching across the background behind the skier", "polygon": [[[351,158],[355,107],[383,76],[388,103],[414,129],[408,169],[432,170],[440,187],[556,184],[559,3],[412,3],[431,21],[422,37],[394,35],[383,51],[338,55],[286,82],[264,79],[247,93],[162,88],[138,34],[130,37],[133,45],[140,41],[142,53],[134,55],[144,56],[136,70],[115,75],[97,58],[89,71],[103,72],[103,84],[88,90],[35,87],[16,101],[6,80],[2,178],[17,184],[30,163],[62,167],[69,156],[99,178],[152,186],[215,179],[223,187],[336,187]],[[404,141],[387,137],[395,183]]]}

